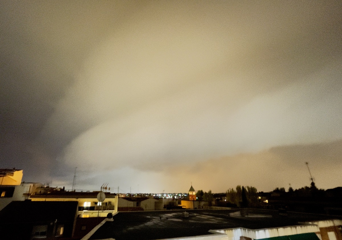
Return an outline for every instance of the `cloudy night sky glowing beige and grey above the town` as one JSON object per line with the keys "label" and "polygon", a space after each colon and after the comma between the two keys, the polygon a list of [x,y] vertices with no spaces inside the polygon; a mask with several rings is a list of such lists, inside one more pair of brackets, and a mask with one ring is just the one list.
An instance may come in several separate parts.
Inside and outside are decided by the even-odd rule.
{"label": "cloudy night sky glowing beige and grey above the town", "polygon": [[341,1],[1,1],[0,168],[120,193],[342,186]]}

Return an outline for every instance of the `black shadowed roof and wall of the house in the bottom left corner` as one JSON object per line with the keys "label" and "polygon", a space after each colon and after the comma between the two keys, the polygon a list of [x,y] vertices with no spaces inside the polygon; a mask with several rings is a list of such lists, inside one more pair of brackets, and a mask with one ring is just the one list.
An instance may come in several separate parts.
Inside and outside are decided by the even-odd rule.
{"label": "black shadowed roof and wall of the house in the bottom left corner", "polygon": [[70,238],[77,205],[76,201],[13,201],[0,211],[0,239],[31,239],[37,226],[45,226],[44,239],[54,238],[57,226],[64,227],[59,239]]}

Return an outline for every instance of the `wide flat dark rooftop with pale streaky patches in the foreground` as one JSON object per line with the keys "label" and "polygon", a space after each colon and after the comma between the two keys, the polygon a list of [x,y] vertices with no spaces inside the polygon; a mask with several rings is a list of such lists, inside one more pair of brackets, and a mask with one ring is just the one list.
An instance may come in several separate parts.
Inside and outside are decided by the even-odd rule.
{"label": "wide flat dark rooftop with pale streaky patches in the foreground", "polygon": [[299,225],[299,222],[337,218],[327,215],[305,213],[278,214],[277,211],[261,209],[229,210],[186,210],[190,214],[183,218],[184,210],[119,212],[114,221],[107,221],[89,239],[116,240],[141,239],[154,240],[165,238],[210,235],[211,229],[238,228],[262,229]]}

